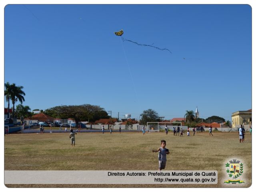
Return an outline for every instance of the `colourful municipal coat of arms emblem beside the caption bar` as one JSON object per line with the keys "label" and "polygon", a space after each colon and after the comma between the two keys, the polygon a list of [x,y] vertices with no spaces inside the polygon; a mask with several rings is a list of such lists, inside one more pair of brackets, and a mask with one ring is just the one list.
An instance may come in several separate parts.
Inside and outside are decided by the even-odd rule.
{"label": "colourful municipal coat of arms emblem beside the caption bar", "polygon": [[229,161],[229,163],[226,163],[226,172],[228,173],[228,176],[231,179],[225,181],[224,183],[244,183],[242,180],[238,180],[237,178],[240,177],[244,172],[244,164],[240,161],[233,159]]}

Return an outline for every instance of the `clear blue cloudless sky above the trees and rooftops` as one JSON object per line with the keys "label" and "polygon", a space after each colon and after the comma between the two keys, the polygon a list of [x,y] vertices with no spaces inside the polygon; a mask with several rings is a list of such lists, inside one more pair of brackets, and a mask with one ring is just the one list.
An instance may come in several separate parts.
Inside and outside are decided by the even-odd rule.
{"label": "clear blue cloudless sky above the trees and rooftops", "polygon": [[[122,41],[167,48],[158,50]],[[92,104],[112,117],[200,118],[252,108],[248,5],[8,5],[4,82],[31,110]],[[19,104],[17,102],[16,104]],[[7,107],[7,103],[4,103]]]}

